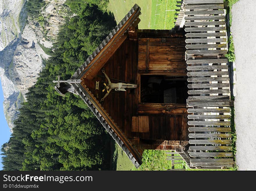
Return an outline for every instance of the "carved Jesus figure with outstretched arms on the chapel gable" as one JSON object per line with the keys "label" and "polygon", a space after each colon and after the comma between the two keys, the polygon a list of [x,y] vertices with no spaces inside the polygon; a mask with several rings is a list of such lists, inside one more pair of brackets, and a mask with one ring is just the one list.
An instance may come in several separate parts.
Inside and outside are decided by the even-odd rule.
{"label": "carved Jesus figure with outstretched arms on the chapel gable", "polygon": [[109,95],[110,91],[113,89],[115,91],[126,91],[125,88],[136,88],[137,87],[136,84],[112,83],[109,79],[109,76],[106,75],[105,71],[102,70],[102,72],[104,73],[105,77],[107,78],[108,84],[104,83],[105,87],[102,90],[102,92],[104,92],[106,90],[106,94],[100,101],[103,101]]}

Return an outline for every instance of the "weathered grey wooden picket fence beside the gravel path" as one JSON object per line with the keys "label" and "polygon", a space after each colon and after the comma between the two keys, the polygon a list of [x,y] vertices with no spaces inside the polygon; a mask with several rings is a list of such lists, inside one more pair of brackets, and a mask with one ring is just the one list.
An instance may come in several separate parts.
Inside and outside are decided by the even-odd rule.
{"label": "weathered grey wooden picket fence beside the gravel path", "polygon": [[[223,0],[184,0],[191,168],[232,167]],[[210,152],[207,152],[210,151]],[[219,152],[221,151],[221,152]],[[219,157],[218,159],[214,157]],[[228,157],[228,158],[227,158]]]}

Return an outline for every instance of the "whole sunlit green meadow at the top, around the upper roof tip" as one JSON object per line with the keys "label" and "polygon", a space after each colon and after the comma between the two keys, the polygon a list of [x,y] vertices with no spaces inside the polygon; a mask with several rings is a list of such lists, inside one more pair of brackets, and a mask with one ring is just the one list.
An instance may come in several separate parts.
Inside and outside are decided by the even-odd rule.
{"label": "whole sunlit green meadow at the top, around the upper roof tip", "polygon": [[[176,0],[109,0],[107,10],[114,14],[116,22],[119,23],[135,3],[141,7],[139,29],[172,29],[174,27],[176,11],[166,12],[166,10],[177,9]],[[160,3],[161,5],[156,6]]]}

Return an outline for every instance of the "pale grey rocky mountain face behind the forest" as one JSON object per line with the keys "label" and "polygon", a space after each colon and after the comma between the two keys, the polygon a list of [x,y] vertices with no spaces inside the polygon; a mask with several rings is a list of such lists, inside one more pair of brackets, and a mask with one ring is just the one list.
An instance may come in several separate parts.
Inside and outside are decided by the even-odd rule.
{"label": "pale grey rocky mountain face behind the forest", "polygon": [[51,48],[68,14],[65,0],[45,0],[38,18],[26,17],[24,3],[0,0],[0,78],[4,113],[11,131],[28,88],[44,68],[43,59],[50,57],[43,49]]}

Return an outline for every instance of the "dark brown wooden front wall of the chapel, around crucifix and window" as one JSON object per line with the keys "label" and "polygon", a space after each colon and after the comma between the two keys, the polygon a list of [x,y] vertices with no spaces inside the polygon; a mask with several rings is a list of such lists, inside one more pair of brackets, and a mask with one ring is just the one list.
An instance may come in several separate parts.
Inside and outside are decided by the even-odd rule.
{"label": "dark brown wooden front wall of the chapel, around crucifix and window", "polygon": [[[145,68],[147,46],[149,48],[148,69]],[[166,42],[162,42],[161,38],[148,40],[147,38],[140,38],[137,41],[127,38],[102,67],[109,78],[138,85],[138,88],[127,90],[127,92],[112,90],[102,103],[106,112],[134,144],[139,143],[140,139],[144,142],[159,139],[188,140],[187,113],[184,104],[174,104],[174,106],[160,104],[158,109],[154,110],[147,108],[145,104],[144,109],[141,109],[143,106],[138,103],[140,74],[186,75],[184,48],[185,41],[183,38],[166,38]],[[99,71],[93,80],[84,79],[83,83],[99,101],[106,92],[102,93],[101,88],[95,90],[96,81],[99,81],[100,84],[106,81],[102,71]],[[118,83],[120,81],[111,80],[111,82]],[[173,107],[174,110],[170,109]],[[144,128],[142,130],[144,132],[132,129],[133,117],[139,118],[139,116],[148,116],[148,128]]]}

